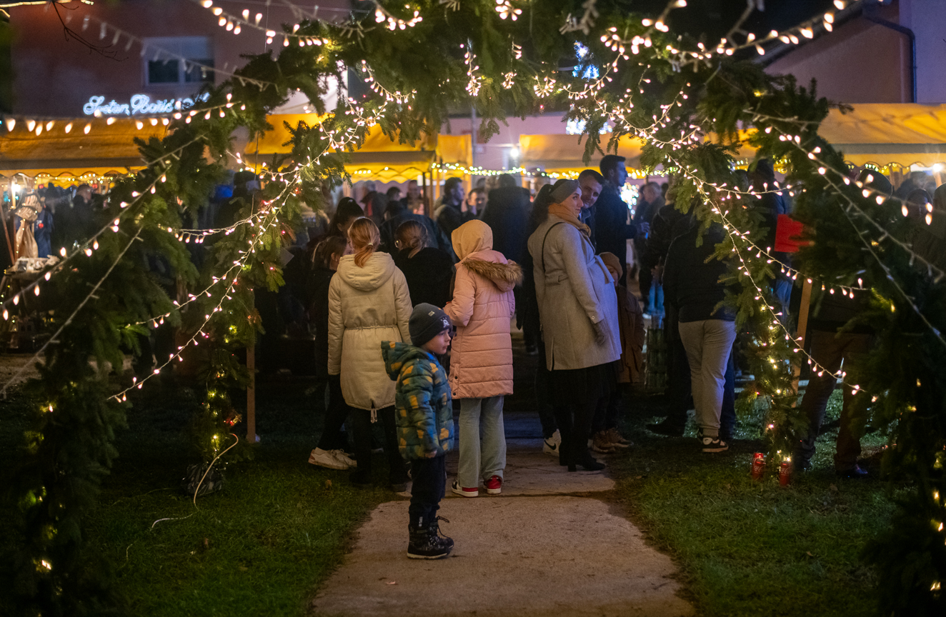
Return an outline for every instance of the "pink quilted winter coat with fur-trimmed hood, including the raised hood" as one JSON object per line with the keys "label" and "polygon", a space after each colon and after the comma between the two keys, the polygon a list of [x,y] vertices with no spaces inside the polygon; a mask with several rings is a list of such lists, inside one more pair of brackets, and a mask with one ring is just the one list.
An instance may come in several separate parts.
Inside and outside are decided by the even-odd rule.
{"label": "pink quilted winter coat with fur-trimmed hood, including the raised hood", "polygon": [[493,250],[493,231],[480,220],[453,231],[460,257],[453,298],[444,312],[457,327],[450,351],[454,399],[485,399],[513,393],[510,320],[516,313],[513,288],[522,268]]}

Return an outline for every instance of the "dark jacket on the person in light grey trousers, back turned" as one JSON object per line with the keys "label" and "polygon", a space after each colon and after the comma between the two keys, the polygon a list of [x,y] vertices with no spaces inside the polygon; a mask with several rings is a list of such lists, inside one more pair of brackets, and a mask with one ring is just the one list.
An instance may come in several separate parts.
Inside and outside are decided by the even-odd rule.
{"label": "dark jacket on the person in light grey trousers, back turned", "polygon": [[726,298],[726,285],[719,279],[726,274],[727,263],[710,257],[716,245],[722,242],[723,228],[716,223],[711,225],[703,237],[703,244],[697,247],[699,225],[690,217],[677,225],[689,229],[674,239],[667,252],[667,265],[663,271],[664,298],[675,304],[681,323],[704,319],[735,320],[731,309],[725,306],[716,308]]}

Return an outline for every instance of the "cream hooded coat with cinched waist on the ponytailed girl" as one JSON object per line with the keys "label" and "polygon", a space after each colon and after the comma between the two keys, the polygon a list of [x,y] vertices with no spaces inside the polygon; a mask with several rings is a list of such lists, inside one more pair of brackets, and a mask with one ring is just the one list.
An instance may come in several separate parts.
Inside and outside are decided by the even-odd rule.
{"label": "cream hooded coat with cinched waist on the ponytailed girl", "polygon": [[411,342],[411,294],[391,255],[375,253],[359,267],[345,255],[328,286],[328,374],[342,373],[345,403],[358,409],[394,404],[381,341]]}

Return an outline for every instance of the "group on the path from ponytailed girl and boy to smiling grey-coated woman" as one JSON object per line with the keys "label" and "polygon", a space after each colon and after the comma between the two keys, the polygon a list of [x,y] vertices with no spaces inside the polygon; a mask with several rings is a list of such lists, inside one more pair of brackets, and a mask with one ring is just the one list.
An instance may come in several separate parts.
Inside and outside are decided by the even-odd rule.
{"label": "group on the path from ponytailed girl and boy to smiling grey-coated woman", "polygon": [[535,375],[543,450],[568,471],[597,471],[604,463],[589,444],[599,454],[631,445],[617,420],[621,384],[641,373],[643,319],[622,280],[627,240],[647,223],[631,221],[621,200],[623,160],[605,157],[602,169],[534,198],[510,176],[488,193],[449,179],[433,217],[412,206],[411,186],[403,199],[343,197],[322,237],[309,233],[303,303],[327,398],[309,462],[369,484],[379,422],[391,488],[412,479],[411,557],[442,557],[452,545],[436,512],[443,455],[456,447],[454,400],[450,490],[502,491],[514,323],[544,354]]}

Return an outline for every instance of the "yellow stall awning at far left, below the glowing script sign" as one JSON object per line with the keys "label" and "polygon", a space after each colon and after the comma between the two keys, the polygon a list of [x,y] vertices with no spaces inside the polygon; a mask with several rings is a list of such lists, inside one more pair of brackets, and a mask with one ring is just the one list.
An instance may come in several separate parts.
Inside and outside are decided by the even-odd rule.
{"label": "yellow stall awning at far left, below the glowing script sign", "polygon": [[[137,122],[142,123],[141,129]],[[69,124],[72,127],[67,133],[65,128]],[[161,123],[151,126],[147,118],[115,119],[111,125],[105,118],[60,120],[48,130],[42,125],[43,130],[37,135],[35,131],[40,126],[37,123],[30,131],[26,122],[19,122],[12,131],[0,136],[0,176],[80,179],[127,174],[145,167],[134,138],[162,138],[166,133]]]}

